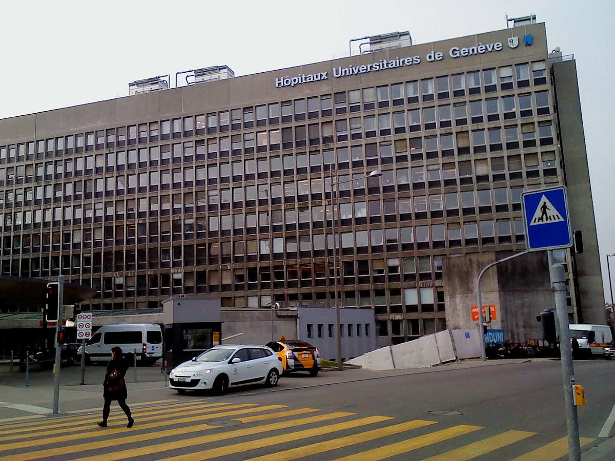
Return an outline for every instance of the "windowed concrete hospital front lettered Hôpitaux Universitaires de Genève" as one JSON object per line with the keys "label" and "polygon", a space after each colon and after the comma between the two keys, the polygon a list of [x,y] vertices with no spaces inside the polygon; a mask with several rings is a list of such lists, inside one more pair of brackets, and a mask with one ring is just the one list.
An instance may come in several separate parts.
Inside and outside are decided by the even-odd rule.
{"label": "windowed concrete hospital front lettered H\u00f4pitaux Universitaires de Gen\u00e8ve", "polygon": [[[554,92],[548,50],[534,24],[2,119],[0,274],[62,272],[98,292],[91,310],[339,292],[373,309],[378,345],[446,329],[442,261],[524,250],[523,190],[576,171],[573,221],[595,240],[587,170],[557,142],[556,97],[574,90]],[[567,107],[564,152],[584,143]],[[600,264],[582,256],[570,305],[589,319]]]}

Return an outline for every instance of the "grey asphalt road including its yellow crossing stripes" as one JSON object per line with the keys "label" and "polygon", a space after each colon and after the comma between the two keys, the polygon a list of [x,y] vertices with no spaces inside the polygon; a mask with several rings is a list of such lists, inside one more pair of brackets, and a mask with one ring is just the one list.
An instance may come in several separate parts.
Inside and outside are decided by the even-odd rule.
{"label": "grey asphalt road including its yellow crossing stripes", "polygon": [[[598,434],[615,404],[615,362],[576,361],[574,368],[587,398],[579,408],[580,432],[591,447],[605,440]],[[0,457],[408,460],[451,450],[457,451],[442,459],[560,457],[566,419],[558,361],[410,373],[296,374],[282,378],[277,388],[243,388],[224,396],[180,396],[163,382],[129,382],[137,421],[132,429],[119,413],[106,430],[96,428],[98,415],[88,408],[97,400],[86,395],[74,405],[81,410],[71,409],[73,416],[15,422],[10,429],[0,425]],[[14,433],[20,430],[28,435]],[[55,433],[71,440],[71,448],[53,438]]]}

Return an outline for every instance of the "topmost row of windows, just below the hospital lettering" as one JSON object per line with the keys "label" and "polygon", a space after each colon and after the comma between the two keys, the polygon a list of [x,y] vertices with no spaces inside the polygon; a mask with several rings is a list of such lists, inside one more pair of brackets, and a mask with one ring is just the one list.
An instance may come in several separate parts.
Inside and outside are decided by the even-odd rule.
{"label": "topmost row of windows, just below the hospital lettering", "polygon": [[[262,104],[256,107],[232,109],[231,111],[213,112],[197,116],[178,117],[149,124],[130,125],[129,127],[109,128],[77,135],[60,136],[47,140],[30,141],[22,144],[0,146],[0,164],[5,162],[20,162],[23,159],[32,160],[46,154],[57,152],[62,155],[73,152],[89,152],[95,149],[109,149],[125,145],[134,145],[148,141],[169,140],[183,136],[203,135],[207,133],[225,132],[231,129],[252,128],[280,122],[290,122],[325,117],[335,113],[344,114],[347,110],[356,112],[376,108],[387,108],[390,104],[398,106],[404,103],[443,100],[452,97],[480,94],[513,88],[513,76],[517,88],[530,86],[530,73],[534,85],[546,84],[546,63],[536,61],[531,64],[522,63],[514,66],[502,66],[498,69],[484,69],[469,73],[453,74],[409,81],[391,85],[381,85],[362,90],[338,92],[320,97],[299,98],[282,103]],[[467,84],[466,84],[467,82]],[[548,97],[547,97],[548,98]],[[538,101],[537,101],[538,103]],[[547,105],[547,104],[546,104]],[[539,106],[538,106],[539,107]],[[281,117],[280,117],[281,116]]]}

